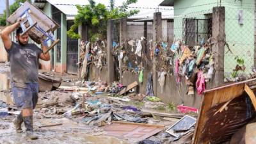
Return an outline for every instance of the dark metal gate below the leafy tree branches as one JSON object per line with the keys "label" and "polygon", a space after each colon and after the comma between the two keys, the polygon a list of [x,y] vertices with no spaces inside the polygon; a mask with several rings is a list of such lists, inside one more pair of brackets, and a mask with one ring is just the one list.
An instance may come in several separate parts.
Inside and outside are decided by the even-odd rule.
{"label": "dark metal gate below the leafy tree branches", "polygon": [[[67,29],[73,24],[72,20],[68,20]],[[75,32],[78,33],[78,29]],[[67,36],[67,72],[70,74],[77,74],[78,49],[78,40]]]}

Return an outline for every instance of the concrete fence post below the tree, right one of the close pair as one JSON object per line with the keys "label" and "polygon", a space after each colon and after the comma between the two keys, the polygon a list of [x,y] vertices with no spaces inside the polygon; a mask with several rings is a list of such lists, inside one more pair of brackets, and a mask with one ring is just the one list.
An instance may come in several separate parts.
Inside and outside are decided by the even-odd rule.
{"label": "concrete fence post below the tree, right one of the close pair", "polygon": [[[120,20],[120,45],[124,45],[124,49],[127,48],[127,19]],[[123,72],[122,72],[122,60],[119,61],[119,74],[120,74],[120,81],[123,82]]]}

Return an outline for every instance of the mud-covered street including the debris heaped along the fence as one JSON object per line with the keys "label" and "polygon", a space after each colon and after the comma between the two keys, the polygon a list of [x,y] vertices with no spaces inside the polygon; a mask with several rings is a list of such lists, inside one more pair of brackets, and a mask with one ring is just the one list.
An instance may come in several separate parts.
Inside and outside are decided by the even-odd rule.
{"label": "mud-covered street including the debris heaped along the fence", "polygon": [[[94,88],[87,85],[83,86],[83,90],[72,90],[75,87],[81,89],[81,84],[76,76],[69,74],[63,76],[61,89],[39,93],[33,116],[35,133],[39,138],[29,140],[24,132],[17,133],[14,129],[12,121],[20,109],[13,104],[9,71],[8,64],[1,63],[0,143],[148,143],[144,139],[154,143],[180,143],[177,138],[164,131],[183,116],[176,113],[172,106],[167,106],[158,99],[155,102],[145,100],[143,95],[130,93],[120,97],[113,93],[96,92],[104,86],[108,87],[107,84],[95,84]],[[54,73],[51,76],[53,75]],[[4,100],[6,101],[3,102]],[[158,113],[163,113],[163,116],[157,115]],[[166,113],[168,115],[164,116]],[[150,130],[145,136],[141,135],[141,138],[136,138],[136,132],[129,130],[132,134],[129,140],[129,134],[122,137],[108,134],[106,126],[115,122],[161,125],[161,129],[147,135]],[[122,125],[118,128],[120,134],[124,132],[121,127]],[[22,129],[25,129],[23,124]]]}

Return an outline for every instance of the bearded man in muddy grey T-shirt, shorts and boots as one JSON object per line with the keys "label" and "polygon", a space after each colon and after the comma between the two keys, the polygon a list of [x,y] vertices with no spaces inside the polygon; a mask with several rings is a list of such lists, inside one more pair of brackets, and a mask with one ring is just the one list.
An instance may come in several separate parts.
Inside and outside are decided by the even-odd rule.
{"label": "bearded man in muddy grey T-shirt, shorts and boots", "polygon": [[[17,43],[10,39],[10,34],[15,29],[17,29],[15,36]],[[50,55],[48,52],[44,54],[47,47],[42,41],[42,49],[40,49],[35,44],[28,44],[28,33],[20,35],[21,33],[20,20],[17,20],[15,24],[1,31],[1,38],[10,56],[13,98],[17,108],[21,109],[13,123],[16,131],[22,132],[21,124],[24,122],[26,135],[31,140],[35,140],[38,137],[33,133],[33,109],[38,100],[38,59],[49,61]]]}

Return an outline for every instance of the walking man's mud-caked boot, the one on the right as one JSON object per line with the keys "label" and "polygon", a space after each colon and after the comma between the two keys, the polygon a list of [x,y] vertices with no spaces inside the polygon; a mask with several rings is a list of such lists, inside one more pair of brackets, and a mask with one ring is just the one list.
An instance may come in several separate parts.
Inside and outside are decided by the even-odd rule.
{"label": "walking man's mud-caked boot, the one on the right", "polygon": [[33,116],[24,116],[23,121],[26,127],[26,135],[31,140],[36,140],[38,137],[33,132]]}

